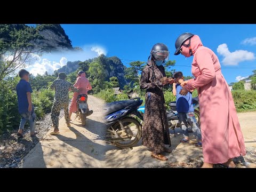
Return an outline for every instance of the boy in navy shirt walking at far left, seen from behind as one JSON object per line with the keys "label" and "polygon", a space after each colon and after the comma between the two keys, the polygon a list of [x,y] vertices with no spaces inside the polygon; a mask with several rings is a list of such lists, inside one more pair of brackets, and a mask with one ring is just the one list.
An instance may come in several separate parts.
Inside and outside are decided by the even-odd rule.
{"label": "boy in navy shirt walking at far left, seen from behind", "polygon": [[20,127],[18,136],[22,136],[24,125],[29,121],[30,135],[35,136],[35,110],[31,101],[32,88],[29,83],[29,72],[25,69],[19,71],[20,82],[16,86],[18,96],[18,109],[21,115]]}

